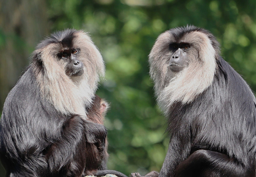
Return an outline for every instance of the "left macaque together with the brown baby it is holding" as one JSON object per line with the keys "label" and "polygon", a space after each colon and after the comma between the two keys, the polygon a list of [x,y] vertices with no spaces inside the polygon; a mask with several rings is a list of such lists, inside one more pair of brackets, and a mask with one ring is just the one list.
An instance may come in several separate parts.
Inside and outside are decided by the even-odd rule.
{"label": "left macaque together with the brown baby it is holding", "polygon": [[6,176],[104,173],[106,103],[95,96],[104,70],[100,52],[82,31],[56,32],[39,43],[3,108],[0,158]]}

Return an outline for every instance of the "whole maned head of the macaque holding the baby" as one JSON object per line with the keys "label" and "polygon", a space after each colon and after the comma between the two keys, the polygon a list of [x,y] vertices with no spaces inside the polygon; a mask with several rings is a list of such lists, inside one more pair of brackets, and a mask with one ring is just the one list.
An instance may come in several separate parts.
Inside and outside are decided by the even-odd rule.
{"label": "whole maned head of the macaque holding the baby", "polygon": [[92,104],[105,71],[87,33],[70,29],[53,33],[39,43],[31,65],[42,97],[62,114],[86,116],[85,107]]}

